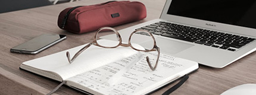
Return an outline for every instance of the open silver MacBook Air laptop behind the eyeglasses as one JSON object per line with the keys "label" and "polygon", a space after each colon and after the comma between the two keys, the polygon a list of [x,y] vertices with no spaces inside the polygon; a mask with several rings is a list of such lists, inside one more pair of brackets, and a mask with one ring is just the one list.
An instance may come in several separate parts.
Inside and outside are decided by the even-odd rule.
{"label": "open silver MacBook Air laptop behind the eyeglasses", "polygon": [[[119,33],[123,42],[128,42],[132,31],[148,30],[161,53],[223,68],[256,50],[255,11],[256,1],[252,0],[167,0],[160,18]],[[101,38],[115,37],[110,34]],[[146,40],[140,44],[146,44]]]}

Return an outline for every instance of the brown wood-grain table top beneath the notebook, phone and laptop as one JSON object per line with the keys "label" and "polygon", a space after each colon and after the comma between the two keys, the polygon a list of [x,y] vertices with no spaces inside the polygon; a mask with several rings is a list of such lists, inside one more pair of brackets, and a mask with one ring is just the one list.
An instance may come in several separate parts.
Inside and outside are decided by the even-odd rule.
{"label": "brown wood-grain table top beneath the notebook, phone and laptop", "polygon": [[[46,94],[60,82],[19,69],[21,62],[60,52],[91,42],[95,32],[73,34],[57,27],[60,11],[67,7],[92,5],[105,0],[83,0],[0,14],[0,94]],[[148,16],[141,21],[114,27],[117,30],[159,18],[165,0],[146,1]],[[67,39],[37,55],[11,53],[10,48],[43,33],[66,34]],[[172,94],[221,94],[236,85],[256,83],[256,52],[222,69],[199,65],[188,81]],[[176,84],[177,81],[174,83]],[[153,93],[161,94],[174,84]],[[83,94],[63,86],[54,94]]]}

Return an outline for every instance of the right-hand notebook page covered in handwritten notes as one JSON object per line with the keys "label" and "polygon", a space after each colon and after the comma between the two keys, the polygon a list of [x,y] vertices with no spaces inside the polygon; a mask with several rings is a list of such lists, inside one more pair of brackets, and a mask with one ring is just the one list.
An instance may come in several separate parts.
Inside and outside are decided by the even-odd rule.
{"label": "right-hand notebook page covered in handwritten notes", "polygon": [[161,55],[155,71],[145,64],[145,56],[136,54],[68,78],[67,85],[92,94],[146,94],[198,68],[196,62],[168,55]]}

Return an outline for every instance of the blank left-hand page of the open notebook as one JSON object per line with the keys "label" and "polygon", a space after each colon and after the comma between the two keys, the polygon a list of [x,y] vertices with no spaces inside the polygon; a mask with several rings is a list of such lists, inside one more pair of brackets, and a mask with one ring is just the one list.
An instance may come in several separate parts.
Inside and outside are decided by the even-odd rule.
{"label": "blank left-hand page of the open notebook", "polygon": [[114,49],[105,49],[92,45],[83,53],[81,53],[72,64],[69,64],[66,52],[70,52],[70,55],[73,56],[74,53],[76,53],[83,46],[85,45],[54,53],[52,55],[43,56],[42,58],[26,61],[21,65],[30,66],[42,71],[56,73],[60,75],[63,80],[65,80],[69,77],[88,71],[90,69],[106,65],[110,62],[114,62],[138,53],[138,51],[133,50],[130,47],[120,46]]}

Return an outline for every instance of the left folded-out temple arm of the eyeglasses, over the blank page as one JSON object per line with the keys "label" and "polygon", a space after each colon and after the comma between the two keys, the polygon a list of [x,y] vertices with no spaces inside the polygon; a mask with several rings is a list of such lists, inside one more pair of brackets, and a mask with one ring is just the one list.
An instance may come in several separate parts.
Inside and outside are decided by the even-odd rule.
{"label": "left folded-out temple arm of the eyeglasses, over the blank page", "polygon": [[93,45],[93,43],[89,43],[88,45],[86,45],[85,47],[83,47],[82,49],[80,49],[78,52],[76,52],[76,54],[74,54],[73,58],[70,59],[70,53],[67,52],[67,59],[68,59],[68,62],[71,64],[74,59],[77,58],[77,56],[80,55],[80,53],[82,53],[84,50],[86,50],[88,47],[90,47],[91,45]]}

